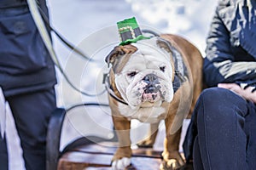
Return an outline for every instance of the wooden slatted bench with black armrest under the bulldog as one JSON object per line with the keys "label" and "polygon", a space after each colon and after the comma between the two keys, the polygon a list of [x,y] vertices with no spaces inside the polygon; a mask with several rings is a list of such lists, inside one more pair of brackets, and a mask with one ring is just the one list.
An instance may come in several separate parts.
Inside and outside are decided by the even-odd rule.
{"label": "wooden slatted bench with black armrest under the bulldog", "polygon": [[[102,139],[87,136],[74,140],[60,151],[61,128],[66,116],[64,109],[56,109],[49,121],[47,135],[46,170],[110,170],[117,145],[117,137]],[[156,170],[161,163],[161,151],[151,148],[132,150],[131,166],[127,169]],[[182,169],[193,169],[191,166]]]}

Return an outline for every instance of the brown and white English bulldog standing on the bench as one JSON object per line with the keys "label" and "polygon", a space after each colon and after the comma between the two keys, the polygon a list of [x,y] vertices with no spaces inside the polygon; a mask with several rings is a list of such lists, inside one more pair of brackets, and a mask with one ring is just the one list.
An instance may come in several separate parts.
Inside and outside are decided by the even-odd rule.
{"label": "brown and white English bulldog standing on the bench", "polygon": [[[184,161],[178,152],[183,119],[202,90],[202,56],[195,46],[172,34],[117,46],[106,57],[111,65],[107,88],[113,125],[119,139],[112,167],[131,164],[131,119],[149,122],[156,130],[165,120],[161,169],[177,169]],[[156,132],[144,144],[153,144]]]}

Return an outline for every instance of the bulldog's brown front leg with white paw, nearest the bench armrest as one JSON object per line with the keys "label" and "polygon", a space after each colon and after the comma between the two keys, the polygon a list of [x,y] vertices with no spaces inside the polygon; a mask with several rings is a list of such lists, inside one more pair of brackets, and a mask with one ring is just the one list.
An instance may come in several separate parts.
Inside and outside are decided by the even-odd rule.
{"label": "bulldog's brown front leg with white paw, nearest the bench armrest", "polygon": [[112,118],[119,139],[119,148],[113,156],[112,168],[114,170],[121,170],[131,164],[131,122],[125,117],[112,116]]}

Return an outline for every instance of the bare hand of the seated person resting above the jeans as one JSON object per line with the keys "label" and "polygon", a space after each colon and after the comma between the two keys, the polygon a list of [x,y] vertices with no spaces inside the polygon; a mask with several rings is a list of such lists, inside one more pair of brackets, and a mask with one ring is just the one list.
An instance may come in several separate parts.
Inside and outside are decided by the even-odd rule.
{"label": "bare hand of the seated person resting above the jeans", "polygon": [[244,99],[252,100],[253,103],[256,104],[256,90],[252,92],[254,87],[248,87],[243,89],[236,83],[219,83],[218,88],[230,89],[236,94],[241,95],[241,97],[243,97]]}

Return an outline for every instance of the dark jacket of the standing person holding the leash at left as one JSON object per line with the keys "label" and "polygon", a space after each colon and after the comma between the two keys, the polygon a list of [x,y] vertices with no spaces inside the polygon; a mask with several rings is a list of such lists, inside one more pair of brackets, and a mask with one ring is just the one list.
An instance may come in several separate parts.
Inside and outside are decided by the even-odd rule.
{"label": "dark jacket of the standing person holding the leash at left", "polygon": [[[45,0],[40,8],[48,15]],[[25,0],[0,1],[0,86],[5,96],[53,88],[55,66]]]}

